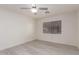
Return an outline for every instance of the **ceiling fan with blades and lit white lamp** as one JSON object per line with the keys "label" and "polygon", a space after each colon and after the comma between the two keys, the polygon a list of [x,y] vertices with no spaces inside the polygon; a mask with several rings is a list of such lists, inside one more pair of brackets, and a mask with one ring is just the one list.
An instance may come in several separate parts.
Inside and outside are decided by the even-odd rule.
{"label": "ceiling fan with blades and lit white lamp", "polygon": [[46,14],[49,13],[49,10],[47,7],[37,7],[36,4],[32,4],[32,7],[31,8],[26,8],[26,7],[22,7],[21,8],[22,10],[31,10],[32,13],[34,13],[35,15],[37,14],[38,10],[44,10]]}

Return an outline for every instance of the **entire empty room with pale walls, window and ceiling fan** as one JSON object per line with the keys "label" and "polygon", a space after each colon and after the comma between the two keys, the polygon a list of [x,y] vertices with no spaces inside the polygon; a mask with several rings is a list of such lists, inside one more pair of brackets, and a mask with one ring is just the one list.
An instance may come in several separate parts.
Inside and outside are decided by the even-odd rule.
{"label": "entire empty room with pale walls, window and ceiling fan", "polygon": [[0,4],[0,55],[79,55],[79,4]]}

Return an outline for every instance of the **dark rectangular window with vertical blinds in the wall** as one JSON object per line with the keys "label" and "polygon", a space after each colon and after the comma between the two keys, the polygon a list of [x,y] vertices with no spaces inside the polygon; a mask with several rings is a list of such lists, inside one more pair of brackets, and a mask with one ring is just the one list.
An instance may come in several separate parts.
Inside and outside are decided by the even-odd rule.
{"label": "dark rectangular window with vertical blinds in the wall", "polygon": [[61,34],[61,20],[43,23],[43,33]]}

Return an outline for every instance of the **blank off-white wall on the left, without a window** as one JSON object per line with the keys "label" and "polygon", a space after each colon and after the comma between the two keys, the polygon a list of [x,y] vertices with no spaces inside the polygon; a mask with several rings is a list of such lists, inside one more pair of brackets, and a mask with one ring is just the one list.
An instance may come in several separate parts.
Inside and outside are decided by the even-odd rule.
{"label": "blank off-white wall on the left, without a window", "polygon": [[0,50],[34,39],[34,20],[0,9]]}

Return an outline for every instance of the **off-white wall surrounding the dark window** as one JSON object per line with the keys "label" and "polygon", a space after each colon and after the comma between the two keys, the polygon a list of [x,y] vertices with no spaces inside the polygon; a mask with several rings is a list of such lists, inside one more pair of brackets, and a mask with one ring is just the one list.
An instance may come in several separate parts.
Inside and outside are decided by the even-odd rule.
{"label": "off-white wall surrounding the dark window", "polygon": [[[62,20],[62,34],[44,34],[43,33],[43,22]],[[58,16],[53,16],[49,18],[43,18],[36,21],[37,22],[37,34],[36,38],[39,40],[45,40],[56,43],[63,43],[68,45],[77,44],[77,14],[66,13]]]}

